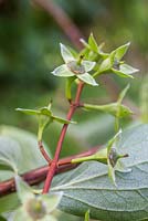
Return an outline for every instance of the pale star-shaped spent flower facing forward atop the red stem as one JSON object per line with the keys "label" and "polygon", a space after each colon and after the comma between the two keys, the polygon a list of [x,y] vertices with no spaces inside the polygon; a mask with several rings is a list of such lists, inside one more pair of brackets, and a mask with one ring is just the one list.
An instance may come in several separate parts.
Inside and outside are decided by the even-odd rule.
{"label": "pale star-shaped spent flower facing forward atop the red stem", "polygon": [[85,61],[84,55],[80,55],[77,59],[75,59],[65,45],[60,45],[61,54],[65,64],[56,67],[52,74],[63,77],[75,76],[75,78],[78,78],[86,84],[97,86],[98,84],[95,82],[94,77],[88,74],[88,72],[94,69],[96,62]]}

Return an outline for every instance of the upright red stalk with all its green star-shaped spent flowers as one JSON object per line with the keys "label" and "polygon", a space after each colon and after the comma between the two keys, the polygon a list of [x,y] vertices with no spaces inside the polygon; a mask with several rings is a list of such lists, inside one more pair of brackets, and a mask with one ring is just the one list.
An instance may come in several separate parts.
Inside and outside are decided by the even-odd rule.
{"label": "upright red stalk with all its green star-shaped spent flowers", "polygon": [[[39,131],[38,131],[38,141],[39,148],[46,159],[49,166],[49,172],[44,182],[43,191],[38,193],[32,192],[32,190],[17,176],[15,183],[17,190],[19,192],[19,198],[21,200],[22,207],[14,214],[13,220],[22,220],[20,217],[23,214],[23,218],[27,220],[54,220],[54,217],[49,214],[51,211],[57,206],[60,199],[62,198],[62,193],[56,193],[55,196],[51,196],[49,193],[53,177],[55,175],[55,170],[57,168],[57,162],[60,159],[60,154],[62,150],[62,144],[68,127],[68,124],[73,124],[72,117],[77,108],[87,109],[87,110],[96,110],[104,112],[115,116],[115,136],[108,141],[107,146],[97,151],[94,155],[88,157],[75,158],[72,159],[71,164],[83,162],[88,160],[95,160],[101,164],[106,164],[108,166],[108,176],[113,181],[113,185],[117,186],[115,180],[115,170],[119,171],[129,171],[129,169],[125,169],[124,164],[120,162],[120,158],[128,157],[128,152],[119,154],[119,148],[116,148],[116,141],[118,136],[121,135],[119,119],[123,117],[127,117],[133,112],[125,105],[121,104],[129,85],[119,94],[119,97],[116,103],[105,104],[105,105],[96,105],[96,104],[86,104],[81,101],[81,94],[83,87],[85,85],[89,86],[98,86],[98,76],[102,74],[116,74],[120,77],[133,77],[131,74],[136,73],[138,70],[129,66],[123,61],[123,56],[127,52],[129,48],[129,43],[119,46],[110,53],[103,52],[103,45],[97,45],[93,34],[89,35],[88,42],[81,40],[84,45],[84,49],[76,53],[71,48],[66,48],[63,44],[61,45],[61,54],[64,60],[64,64],[56,67],[52,74],[55,76],[64,77],[66,80],[65,83],[65,97],[70,102],[70,109],[66,118],[62,118],[55,116],[51,110],[52,103],[46,107],[42,107],[40,109],[23,109],[18,108],[17,110],[35,115],[39,122]],[[72,86],[76,84],[77,90],[74,94],[72,94]],[[45,152],[42,145],[42,137],[44,129],[53,122],[59,122],[63,124],[62,131],[57,141],[57,146],[55,149],[55,155],[53,159],[50,159],[50,156]],[[54,199],[53,199],[54,198]],[[52,204],[52,200],[54,203]],[[85,214],[85,221],[89,220],[89,211]]]}

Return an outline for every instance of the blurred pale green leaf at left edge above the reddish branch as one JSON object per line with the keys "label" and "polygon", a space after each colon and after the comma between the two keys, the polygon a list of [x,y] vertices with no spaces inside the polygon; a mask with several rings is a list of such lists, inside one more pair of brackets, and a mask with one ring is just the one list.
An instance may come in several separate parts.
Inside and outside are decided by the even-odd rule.
{"label": "blurred pale green leaf at left edge above the reddish branch", "polygon": [[[49,148],[44,144],[44,148]],[[19,173],[42,167],[46,164],[42,157],[35,135],[11,126],[0,126],[0,158],[4,157],[10,164],[14,164]],[[0,181],[14,176],[10,169],[1,168]]]}

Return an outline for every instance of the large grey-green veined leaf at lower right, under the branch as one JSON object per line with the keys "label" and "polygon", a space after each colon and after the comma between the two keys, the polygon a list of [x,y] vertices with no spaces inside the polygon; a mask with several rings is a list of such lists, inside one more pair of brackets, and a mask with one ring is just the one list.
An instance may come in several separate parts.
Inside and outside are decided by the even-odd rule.
{"label": "large grey-green veined leaf at lower right, under the branch", "polygon": [[[63,191],[60,209],[101,221],[138,221],[148,218],[148,125],[123,133],[117,143],[131,172],[116,171],[115,187],[106,165],[88,161],[54,178],[52,191]],[[120,159],[123,160],[123,159]]]}

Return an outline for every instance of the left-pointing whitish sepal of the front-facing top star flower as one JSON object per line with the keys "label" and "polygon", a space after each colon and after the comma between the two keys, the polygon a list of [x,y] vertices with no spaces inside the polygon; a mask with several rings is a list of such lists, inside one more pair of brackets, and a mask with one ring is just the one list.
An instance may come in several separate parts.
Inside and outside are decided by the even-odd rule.
{"label": "left-pointing whitish sepal of the front-facing top star flower", "polygon": [[74,75],[75,75],[73,72],[71,72],[71,71],[67,69],[67,65],[66,65],[66,64],[62,64],[61,66],[57,66],[57,67],[52,72],[52,74],[55,75],[55,76],[64,76],[64,77],[74,76]]}

